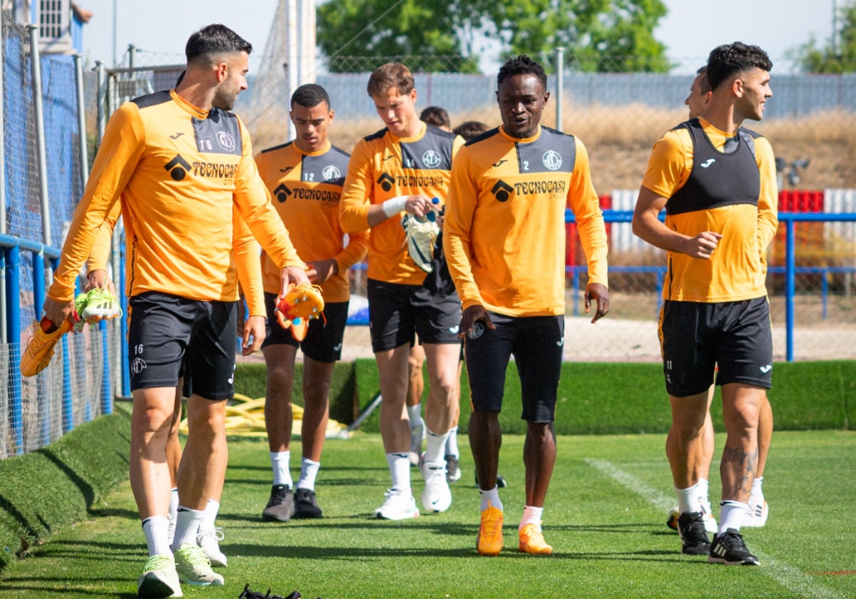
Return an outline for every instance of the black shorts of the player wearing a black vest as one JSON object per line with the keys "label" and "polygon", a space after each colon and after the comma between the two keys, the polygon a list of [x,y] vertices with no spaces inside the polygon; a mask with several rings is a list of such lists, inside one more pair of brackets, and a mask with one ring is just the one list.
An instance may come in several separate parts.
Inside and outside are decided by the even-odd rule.
{"label": "black shorts of the player wearing a black vest", "polygon": [[767,298],[705,304],[670,301],[660,311],[666,390],[673,397],[716,384],[770,388],[773,335]]}

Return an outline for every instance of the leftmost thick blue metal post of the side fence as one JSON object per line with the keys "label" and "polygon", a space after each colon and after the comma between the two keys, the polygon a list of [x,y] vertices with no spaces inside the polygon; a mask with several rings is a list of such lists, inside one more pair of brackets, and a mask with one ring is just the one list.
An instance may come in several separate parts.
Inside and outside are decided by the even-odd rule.
{"label": "leftmost thick blue metal post of the side fence", "polygon": [[21,405],[21,250],[18,246],[3,250],[6,258],[6,298],[9,311],[6,329],[9,331],[9,415],[15,453],[24,453],[24,410]]}

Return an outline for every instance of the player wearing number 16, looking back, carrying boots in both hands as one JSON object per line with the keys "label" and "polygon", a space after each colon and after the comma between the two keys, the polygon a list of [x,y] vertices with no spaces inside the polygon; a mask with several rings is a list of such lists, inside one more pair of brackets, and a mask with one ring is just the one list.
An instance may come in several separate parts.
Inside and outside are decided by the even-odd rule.
{"label": "player wearing number 16, looking back, carrying boots in both hands", "polygon": [[[252,49],[228,27],[204,27],[187,40],[181,84],[122,104],[110,117],[45,299],[51,322],[68,317],[80,266],[121,203],[134,395],[130,480],[149,550],[137,582],[141,597],[181,596],[180,578],[223,584],[195,539],[227,461],[224,418],[233,394],[236,326],[233,209],[281,267],[283,296],[290,283],[308,282],[259,178],[247,129],[229,112],[247,87]],[[178,471],[174,556],[165,454],[185,358],[193,395]]]}

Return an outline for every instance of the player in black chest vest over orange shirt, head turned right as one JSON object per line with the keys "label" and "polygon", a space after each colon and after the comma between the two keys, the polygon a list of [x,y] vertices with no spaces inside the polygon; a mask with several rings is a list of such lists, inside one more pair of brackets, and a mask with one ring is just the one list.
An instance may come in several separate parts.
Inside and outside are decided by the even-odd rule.
{"label": "player in black chest vest over orange shirt, head turned right", "polygon": [[[770,68],[755,45],[734,42],[710,52],[712,93],[704,115],[654,145],[633,213],[633,233],[669,252],[659,335],[681,551],[749,566],[758,558],[746,549],[740,526],[758,471],[758,413],[773,368],[764,255],[778,219],[770,143],[740,126],[764,116]],[[664,223],[657,219],[663,208]],[[727,438],[720,520],[710,543],[697,486],[715,368]]]}

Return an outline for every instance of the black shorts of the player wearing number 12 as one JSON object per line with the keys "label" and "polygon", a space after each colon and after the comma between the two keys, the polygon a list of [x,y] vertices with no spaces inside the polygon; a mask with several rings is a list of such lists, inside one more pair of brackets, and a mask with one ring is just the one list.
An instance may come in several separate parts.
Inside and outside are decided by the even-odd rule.
{"label": "black shorts of the player wearing number 12", "polygon": [[[283,329],[276,321],[274,308],[277,294],[265,292],[265,341],[262,349],[271,345],[290,345],[300,347],[307,358],[318,362],[336,362],[342,358],[342,339],[345,336],[345,323],[348,322],[348,302],[336,301],[324,304],[324,317],[312,318],[303,341],[294,339],[291,329]],[[324,320],[326,318],[326,321]]]}

